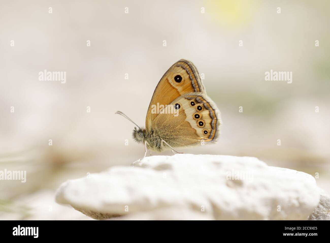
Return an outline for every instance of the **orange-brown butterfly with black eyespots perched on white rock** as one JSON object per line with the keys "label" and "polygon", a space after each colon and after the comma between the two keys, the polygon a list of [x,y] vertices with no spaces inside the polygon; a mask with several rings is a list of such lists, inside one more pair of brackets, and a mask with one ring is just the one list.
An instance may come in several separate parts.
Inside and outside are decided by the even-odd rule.
{"label": "orange-brown butterfly with black eyespots perched on white rock", "polygon": [[207,96],[195,65],[181,59],[174,63],[158,82],[153,92],[146,128],[135,124],[133,139],[147,148],[161,152],[170,148],[194,147],[216,143],[220,134],[220,111]]}

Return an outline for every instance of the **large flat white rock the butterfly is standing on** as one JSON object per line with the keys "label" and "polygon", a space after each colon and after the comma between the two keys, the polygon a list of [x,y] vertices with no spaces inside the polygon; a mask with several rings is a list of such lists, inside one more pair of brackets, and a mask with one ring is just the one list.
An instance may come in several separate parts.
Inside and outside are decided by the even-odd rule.
{"label": "large flat white rock the butterfly is standing on", "polygon": [[58,203],[95,219],[143,214],[144,219],[307,220],[319,198],[309,174],[253,157],[192,154],[112,167],[67,181],[56,195]]}

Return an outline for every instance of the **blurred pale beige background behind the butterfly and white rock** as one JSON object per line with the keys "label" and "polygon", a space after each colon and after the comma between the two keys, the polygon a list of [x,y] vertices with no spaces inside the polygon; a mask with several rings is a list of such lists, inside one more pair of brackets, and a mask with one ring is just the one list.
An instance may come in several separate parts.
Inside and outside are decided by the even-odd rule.
{"label": "blurred pale beige background behind the butterfly and white rock", "polygon": [[[329,7],[327,0],[1,1],[0,170],[27,176],[0,181],[0,219],[88,220],[56,204],[56,189],[143,157],[134,125],[115,112],[144,126],[158,81],[182,58],[205,74],[223,121],[218,144],[182,152],[318,173],[330,193]],[[45,69],[65,71],[66,83],[39,81]],[[271,69],[291,71],[292,83],[265,81]]]}

